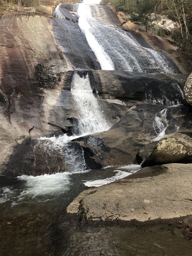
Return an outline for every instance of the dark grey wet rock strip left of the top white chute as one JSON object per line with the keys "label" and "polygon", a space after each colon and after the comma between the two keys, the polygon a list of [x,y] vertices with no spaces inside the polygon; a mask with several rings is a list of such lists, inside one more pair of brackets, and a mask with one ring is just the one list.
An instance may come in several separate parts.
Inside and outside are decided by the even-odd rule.
{"label": "dark grey wet rock strip left of the top white chute", "polygon": [[70,70],[100,69],[96,56],[81,32],[77,15],[77,4],[62,4],[60,11],[52,20],[52,30],[58,44],[62,47]]}

